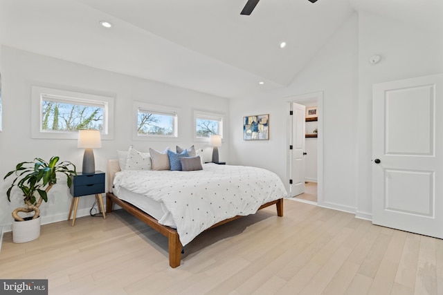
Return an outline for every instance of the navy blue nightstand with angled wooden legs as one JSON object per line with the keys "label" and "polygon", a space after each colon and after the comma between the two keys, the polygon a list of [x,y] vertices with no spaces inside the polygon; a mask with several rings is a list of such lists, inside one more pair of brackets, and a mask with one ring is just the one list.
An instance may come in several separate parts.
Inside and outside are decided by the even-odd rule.
{"label": "navy blue nightstand with angled wooden legs", "polygon": [[69,209],[68,220],[71,220],[72,209],[74,209],[74,216],[72,219],[72,226],[75,225],[75,216],[77,215],[78,200],[82,196],[96,195],[99,211],[103,214],[103,219],[106,218],[105,207],[103,207],[102,193],[105,193],[105,172],[96,171],[96,173],[83,174],[77,173],[77,176],[71,175],[71,209]]}

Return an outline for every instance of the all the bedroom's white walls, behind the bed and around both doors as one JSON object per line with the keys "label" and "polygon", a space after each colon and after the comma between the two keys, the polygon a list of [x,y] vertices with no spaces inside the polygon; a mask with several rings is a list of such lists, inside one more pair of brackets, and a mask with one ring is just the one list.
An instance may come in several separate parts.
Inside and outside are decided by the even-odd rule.
{"label": "all the bedroom's white walls, behind the bed and around both doors", "polygon": [[[96,151],[97,169],[105,170],[107,159],[116,158],[116,150],[127,149],[129,144],[144,151],[150,146],[164,149],[175,144],[193,144],[192,109],[199,108],[227,114],[229,134],[224,146],[219,148],[221,161],[264,167],[278,173],[282,180],[287,178],[289,97],[323,91],[323,202],[320,205],[370,218],[372,84],[443,73],[442,42],[442,35],[436,32],[361,12],[343,23],[290,86],[230,101],[3,47],[0,53],[3,79],[0,175],[5,175],[17,162],[35,156],[60,155],[63,160],[81,165],[82,151],[72,140],[30,138],[32,85],[116,98],[116,133],[114,140],[104,141],[103,148]],[[381,62],[369,64],[368,58],[376,53],[382,56]],[[182,108],[182,137],[178,142],[132,142],[130,116],[134,100]],[[270,140],[242,140],[242,118],[263,113],[270,115]],[[2,180],[3,196],[7,187]],[[66,219],[71,202],[67,189],[58,186],[51,193],[56,196],[43,205],[44,222]],[[82,198],[79,216],[87,214],[92,199]],[[6,197],[0,198],[0,216],[9,215],[18,204],[18,201],[9,204]]]}

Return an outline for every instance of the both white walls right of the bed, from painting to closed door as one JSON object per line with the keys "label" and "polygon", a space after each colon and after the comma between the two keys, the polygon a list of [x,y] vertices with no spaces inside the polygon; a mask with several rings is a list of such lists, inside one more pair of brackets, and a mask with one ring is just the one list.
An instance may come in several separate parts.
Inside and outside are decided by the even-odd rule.
{"label": "both white walls right of the bed, from painting to closed door", "polygon": [[[287,48],[290,50],[290,48]],[[379,54],[379,64],[369,57]],[[366,12],[352,16],[284,91],[230,104],[233,162],[286,173],[285,97],[323,91],[324,169],[320,205],[372,218],[372,84],[443,73],[443,36]],[[248,113],[271,113],[271,140],[242,142],[236,121]]]}

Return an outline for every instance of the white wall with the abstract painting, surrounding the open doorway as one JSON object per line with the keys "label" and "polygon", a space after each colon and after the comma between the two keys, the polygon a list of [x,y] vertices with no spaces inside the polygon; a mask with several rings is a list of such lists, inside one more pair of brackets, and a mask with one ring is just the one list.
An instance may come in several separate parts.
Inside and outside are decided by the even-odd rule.
{"label": "white wall with the abstract painting, surrounding the open doorway", "polygon": [[[285,48],[290,50],[290,48]],[[288,65],[290,66],[290,65]],[[354,15],[282,91],[230,103],[231,160],[262,166],[287,179],[287,102],[289,97],[323,91],[323,202],[347,211],[356,207],[356,102],[358,18]],[[245,142],[243,115],[269,113],[270,140]],[[320,172],[320,171],[319,171]]]}

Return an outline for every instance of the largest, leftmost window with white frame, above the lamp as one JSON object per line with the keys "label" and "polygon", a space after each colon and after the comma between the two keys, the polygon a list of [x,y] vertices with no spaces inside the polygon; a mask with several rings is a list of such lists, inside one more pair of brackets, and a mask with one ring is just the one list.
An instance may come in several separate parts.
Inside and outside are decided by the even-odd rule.
{"label": "largest, leftmost window with white frame, above the lamp", "polygon": [[114,99],[33,86],[33,138],[78,137],[78,130],[100,130],[112,139]]}

